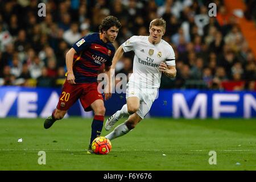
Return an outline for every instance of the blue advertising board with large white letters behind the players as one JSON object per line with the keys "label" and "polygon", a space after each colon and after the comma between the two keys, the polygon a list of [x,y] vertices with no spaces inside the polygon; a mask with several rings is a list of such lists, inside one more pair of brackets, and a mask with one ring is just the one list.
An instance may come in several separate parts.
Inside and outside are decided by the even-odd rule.
{"label": "blue advertising board with large white letters behind the players", "polygon": [[[46,118],[56,108],[61,90],[52,88],[0,87],[0,117]],[[105,102],[106,115],[112,115],[126,103],[124,93],[112,94]],[[69,115],[93,117],[77,101]],[[255,118],[256,92],[213,90],[159,90],[147,117],[173,118]]]}

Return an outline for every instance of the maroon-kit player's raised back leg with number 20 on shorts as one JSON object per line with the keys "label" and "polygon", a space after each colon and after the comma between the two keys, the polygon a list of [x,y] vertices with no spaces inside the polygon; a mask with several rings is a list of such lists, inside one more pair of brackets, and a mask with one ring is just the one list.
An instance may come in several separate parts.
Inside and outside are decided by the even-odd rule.
{"label": "maroon-kit player's raised back leg with number 20 on shorts", "polygon": [[44,128],[49,129],[55,121],[62,119],[69,107],[77,101],[81,92],[82,87],[80,85],[72,85],[65,81],[63,89],[61,90],[57,109],[53,110],[52,114],[44,121]]}

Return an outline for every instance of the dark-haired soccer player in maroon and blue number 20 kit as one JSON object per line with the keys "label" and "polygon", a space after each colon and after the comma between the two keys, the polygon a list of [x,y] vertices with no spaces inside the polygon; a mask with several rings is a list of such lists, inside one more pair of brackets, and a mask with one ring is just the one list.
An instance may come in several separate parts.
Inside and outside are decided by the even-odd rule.
{"label": "dark-haired soccer player in maroon and blue number 20 kit", "polygon": [[[83,37],[66,54],[67,79],[63,85],[57,108],[44,122],[48,129],[53,123],[62,119],[78,99],[85,111],[94,111],[92,134],[88,153],[93,153],[91,144],[94,138],[100,136],[105,107],[102,94],[98,92],[97,76],[102,64],[108,71],[112,65],[115,53],[113,42],[121,23],[114,16],[107,16],[99,27],[100,33],[93,33]],[[108,100],[105,94],[105,100]]]}

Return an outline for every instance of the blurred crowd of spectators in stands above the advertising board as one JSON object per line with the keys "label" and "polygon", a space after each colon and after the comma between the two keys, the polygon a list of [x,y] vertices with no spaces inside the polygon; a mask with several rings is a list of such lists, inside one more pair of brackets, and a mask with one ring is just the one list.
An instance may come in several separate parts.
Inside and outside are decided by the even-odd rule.
{"label": "blurred crowd of spectators in stands above the advertising board", "polygon": [[[46,16],[39,17],[39,3]],[[208,15],[216,3],[217,16]],[[253,1],[246,18],[255,20]],[[255,5],[255,3],[254,3]],[[167,22],[163,39],[174,48],[176,78],[162,76],[160,88],[255,90],[255,55],[220,0],[0,1],[0,85],[60,87],[65,80],[65,53],[101,20],[114,15],[122,27],[118,48],[133,35],[148,35],[152,19]],[[116,73],[133,72],[133,53],[125,53]]]}

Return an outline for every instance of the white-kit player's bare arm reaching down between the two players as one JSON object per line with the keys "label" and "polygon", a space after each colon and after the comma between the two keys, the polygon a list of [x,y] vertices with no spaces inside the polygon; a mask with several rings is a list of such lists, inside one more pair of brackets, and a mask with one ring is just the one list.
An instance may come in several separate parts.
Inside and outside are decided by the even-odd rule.
{"label": "white-kit player's bare arm reaching down between the two players", "polygon": [[108,84],[106,86],[106,90],[105,90],[105,100],[109,100],[109,98],[112,96],[111,93],[111,88],[112,88],[112,84],[114,84],[114,80],[112,80],[112,78],[115,75],[115,65],[117,64],[118,60],[121,59],[121,57],[123,56],[123,47],[122,45],[118,47],[117,51],[115,52],[115,55],[113,57],[112,60],[112,65],[111,67],[109,67],[110,69],[106,69],[106,75],[108,76]]}

